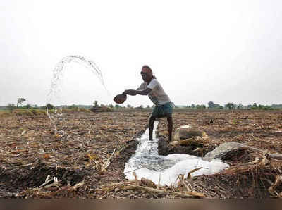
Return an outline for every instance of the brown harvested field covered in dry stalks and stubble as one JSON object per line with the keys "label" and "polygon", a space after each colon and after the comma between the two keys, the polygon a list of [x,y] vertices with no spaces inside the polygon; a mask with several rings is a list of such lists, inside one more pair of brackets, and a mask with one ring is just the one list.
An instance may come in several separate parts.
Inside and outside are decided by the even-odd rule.
{"label": "brown harvested field covered in dry stalks and stubble", "polygon": [[[47,116],[3,116],[0,123],[0,197],[79,198],[265,198],[281,197],[282,111],[196,111],[173,113],[173,130],[192,125],[209,140],[168,147],[161,119],[159,154],[204,156],[223,142],[240,142],[264,152],[237,149],[223,160],[231,168],[183,179],[178,187],[130,181],[124,164],[135,154],[149,111],[65,113],[54,135]],[[212,119],[212,123],[211,123]]]}

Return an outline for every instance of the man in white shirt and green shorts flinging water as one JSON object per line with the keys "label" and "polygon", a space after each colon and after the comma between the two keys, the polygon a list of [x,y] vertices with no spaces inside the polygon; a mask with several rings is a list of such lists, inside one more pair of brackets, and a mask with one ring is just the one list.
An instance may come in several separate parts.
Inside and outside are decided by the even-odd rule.
{"label": "man in white shirt and green shorts flinging water", "polygon": [[140,87],[135,89],[126,89],[123,94],[135,96],[136,94],[148,95],[149,99],[156,105],[149,117],[149,140],[153,140],[154,121],[157,118],[167,118],[168,122],[168,141],[171,142],[173,120],[173,103],[168,95],[164,92],[161,84],[154,77],[152,69],[149,66],[142,66],[141,76],[144,82]]}

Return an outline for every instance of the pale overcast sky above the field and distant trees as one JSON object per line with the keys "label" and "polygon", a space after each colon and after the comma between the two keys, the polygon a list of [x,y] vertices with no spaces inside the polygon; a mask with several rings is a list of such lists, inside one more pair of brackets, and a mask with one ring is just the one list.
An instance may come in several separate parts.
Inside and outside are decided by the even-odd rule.
{"label": "pale overcast sky above the field and distant trees", "polygon": [[175,104],[282,103],[281,0],[2,0],[0,16],[0,106],[18,97],[45,104],[54,67],[69,55],[94,61],[110,94],[70,63],[54,104],[114,104],[139,87],[144,64]]}

